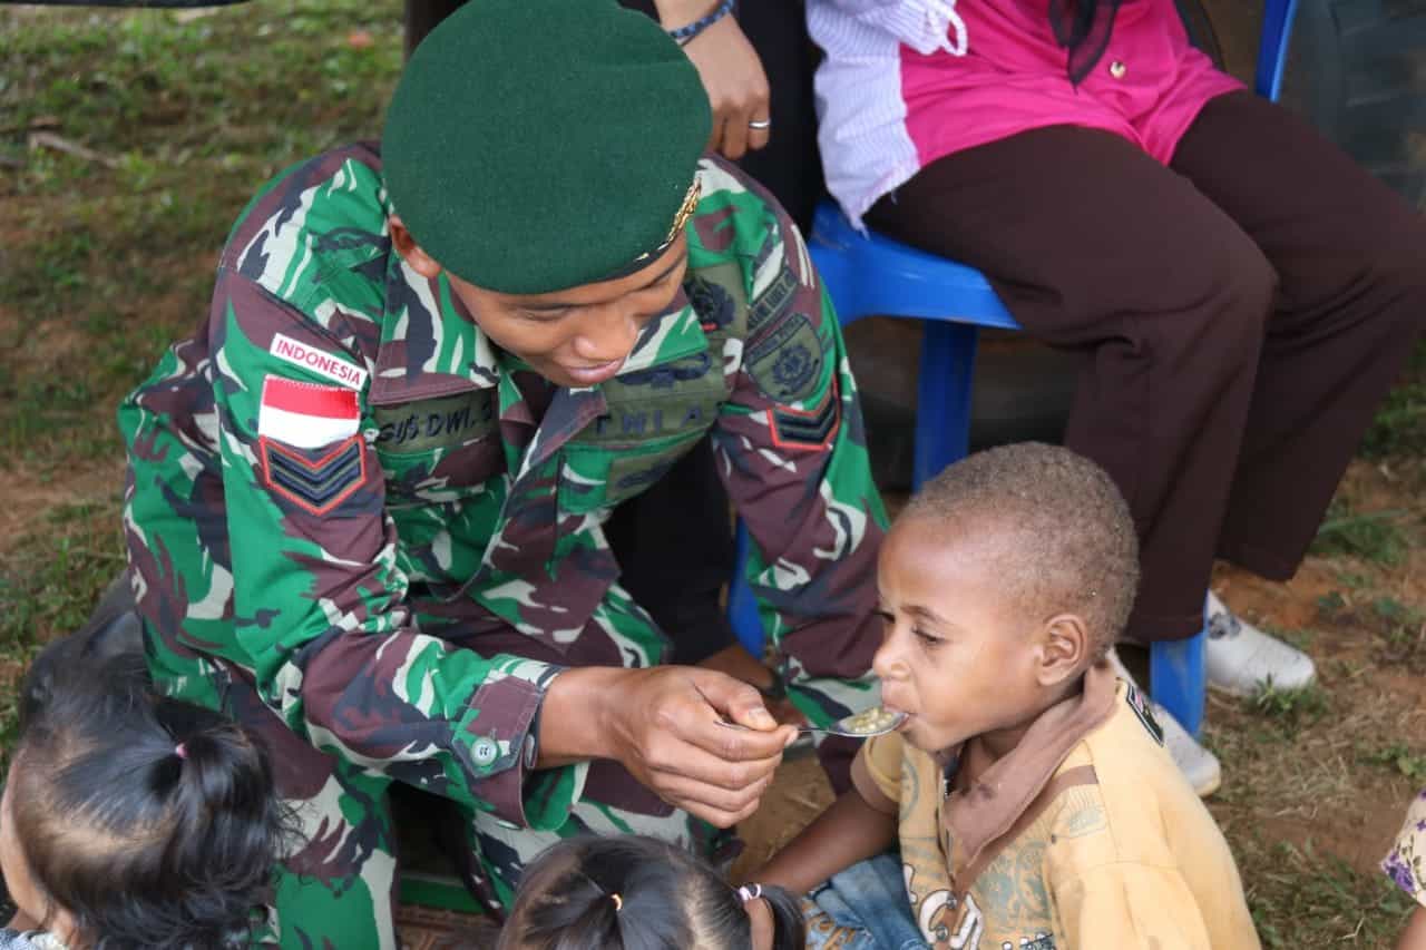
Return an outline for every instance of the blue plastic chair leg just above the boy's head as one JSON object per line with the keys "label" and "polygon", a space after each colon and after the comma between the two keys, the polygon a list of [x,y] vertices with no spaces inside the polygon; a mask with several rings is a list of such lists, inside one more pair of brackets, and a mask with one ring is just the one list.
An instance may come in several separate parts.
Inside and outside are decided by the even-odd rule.
{"label": "blue plastic chair leg just above the boy's head", "polygon": [[921,332],[921,379],[915,405],[915,461],[911,488],[965,458],[971,434],[974,324],[928,320]]}

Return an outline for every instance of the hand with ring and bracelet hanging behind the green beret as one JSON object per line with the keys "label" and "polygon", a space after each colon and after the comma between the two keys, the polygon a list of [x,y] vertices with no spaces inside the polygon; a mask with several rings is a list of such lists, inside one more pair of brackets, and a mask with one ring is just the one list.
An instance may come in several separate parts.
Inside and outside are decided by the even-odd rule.
{"label": "hand with ring and bracelet hanging behind the green beret", "polygon": [[[655,6],[660,24],[674,30],[707,14],[713,4],[709,0],[656,0]],[[737,20],[723,17],[689,40],[683,51],[699,70],[713,107],[709,148],[737,161],[747,150],[766,145],[771,130],[753,128],[749,123],[767,121],[771,91],[763,61]]]}

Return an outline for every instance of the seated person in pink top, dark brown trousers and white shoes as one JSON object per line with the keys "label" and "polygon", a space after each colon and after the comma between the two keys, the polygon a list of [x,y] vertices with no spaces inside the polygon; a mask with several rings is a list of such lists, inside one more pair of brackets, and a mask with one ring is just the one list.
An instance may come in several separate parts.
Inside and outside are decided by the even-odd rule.
{"label": "seated person in pink top, dark brown trousers and white shoes", "polygon": [[[847,215],[980,268],[1081,357],[1064,441],[1139,531],[1127,638],[1199,630],[1215,558],[1291,578],[1426,314],[1422,218],[1215,70],[1172,0],[809,0],[809,26]],[[1208,605],[1211,685],[1312,680]]]}

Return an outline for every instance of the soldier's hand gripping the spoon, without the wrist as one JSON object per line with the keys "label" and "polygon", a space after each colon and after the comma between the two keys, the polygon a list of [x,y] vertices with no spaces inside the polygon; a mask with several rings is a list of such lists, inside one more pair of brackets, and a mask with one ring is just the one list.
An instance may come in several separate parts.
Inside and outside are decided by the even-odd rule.
{"label": "soldier's hand gripping the spoon, without the wrist", "polygon": [[756,812],[796,727],[779,726],[756,689],[724,673],[692,666],[627,673],[610,698],[615,757],[665,802],[717,827]]}

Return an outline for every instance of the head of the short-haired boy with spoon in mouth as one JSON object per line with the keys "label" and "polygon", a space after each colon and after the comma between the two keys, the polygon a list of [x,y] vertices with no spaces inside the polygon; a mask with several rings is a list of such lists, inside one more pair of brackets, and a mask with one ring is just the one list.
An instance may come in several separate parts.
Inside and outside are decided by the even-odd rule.
{"label": "head of the short-haired boy with spoon in mouth", "polygon": [[977,452],[910,501],[877,563],[873,669],[913,745],[1034,720],[1124,629],[1138,586],[1128,505],[1098,465],[1025,442]]}

